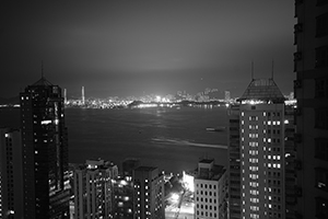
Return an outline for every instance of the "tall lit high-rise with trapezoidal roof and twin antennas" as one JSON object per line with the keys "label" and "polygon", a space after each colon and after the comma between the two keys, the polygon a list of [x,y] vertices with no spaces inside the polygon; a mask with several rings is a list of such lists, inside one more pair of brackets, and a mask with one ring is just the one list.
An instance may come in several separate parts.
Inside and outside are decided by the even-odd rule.
{"label": "tall lit high-rise with trapezoidal roof and twin antennas", "polygon": [[284,218],[284,96],[272,79],[253,79],[238,101],[230,112],[230,216],[241,206],[243,219]]}

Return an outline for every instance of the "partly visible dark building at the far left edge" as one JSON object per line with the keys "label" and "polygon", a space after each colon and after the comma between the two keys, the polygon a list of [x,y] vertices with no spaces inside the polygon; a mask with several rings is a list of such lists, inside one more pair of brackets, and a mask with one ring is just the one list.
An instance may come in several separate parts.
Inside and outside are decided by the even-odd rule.
{"label": "partly visible dark building at the far left edge", "polygon": [[0,218],[23,218],[22,168],[21,131],[0,128]]}

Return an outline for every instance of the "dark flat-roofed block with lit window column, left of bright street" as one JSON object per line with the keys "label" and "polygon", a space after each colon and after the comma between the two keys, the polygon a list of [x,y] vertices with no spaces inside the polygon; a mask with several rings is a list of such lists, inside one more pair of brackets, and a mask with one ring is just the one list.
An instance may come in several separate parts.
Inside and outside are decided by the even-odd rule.
{"label": "dark flat-roofed block with lit window column, left of bright street", "polygon": [[164,175],[157,168],[139,166],[133,170],[134,219],[165,219]]}

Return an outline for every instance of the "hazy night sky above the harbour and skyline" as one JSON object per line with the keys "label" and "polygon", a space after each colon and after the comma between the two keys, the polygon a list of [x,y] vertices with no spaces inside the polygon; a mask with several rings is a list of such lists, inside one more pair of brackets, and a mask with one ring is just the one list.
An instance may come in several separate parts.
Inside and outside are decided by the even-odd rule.
{"label": "hazy night sky above the harbour and skyline", "polygon": [[44,74],[69,96],[238,96],[255,78],[293,91],[294,2],[288,0],[1,2],[0,96]]}

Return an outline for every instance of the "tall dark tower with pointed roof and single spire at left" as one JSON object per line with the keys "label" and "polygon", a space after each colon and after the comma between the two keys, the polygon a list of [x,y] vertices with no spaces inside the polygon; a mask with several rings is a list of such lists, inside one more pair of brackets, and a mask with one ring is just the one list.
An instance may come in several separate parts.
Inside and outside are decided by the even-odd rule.
{"label": "tall dark tower with pointed roof and single spire at left", "polygon": [[24,218],[69,218],[68,139],[61,89],[42,77],[20,99]]}

